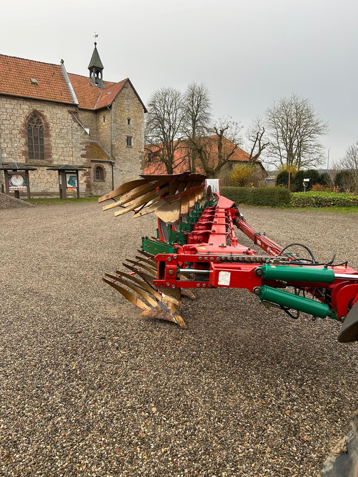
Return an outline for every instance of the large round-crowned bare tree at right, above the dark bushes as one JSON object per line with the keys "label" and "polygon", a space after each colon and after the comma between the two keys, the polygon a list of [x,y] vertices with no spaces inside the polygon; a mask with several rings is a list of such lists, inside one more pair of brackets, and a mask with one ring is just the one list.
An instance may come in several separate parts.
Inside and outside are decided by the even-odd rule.
{"label": "large round-crowned bare tree at right, above the dark bushes", "polygon": [[289,166],[314,167],[324,160],[319,139],[328,133],[328,123],[317,114],[308,98],[298,94],[282,97],[266,110],[272,163]]}

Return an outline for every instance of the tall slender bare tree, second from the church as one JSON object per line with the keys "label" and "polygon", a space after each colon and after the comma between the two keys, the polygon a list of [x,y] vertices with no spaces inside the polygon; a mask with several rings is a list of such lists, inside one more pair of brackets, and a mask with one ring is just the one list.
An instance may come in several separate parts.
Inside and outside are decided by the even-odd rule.
{"label": "tall slender bare tree, second from the church", "polygon": [[191,147],[196,137],[202,137],[211,122],[211,94],[204,83],[188,84],[183,97],[183,113],[185,122],[183,133],[188,141],[189,170],[195,172],[197,151]]}

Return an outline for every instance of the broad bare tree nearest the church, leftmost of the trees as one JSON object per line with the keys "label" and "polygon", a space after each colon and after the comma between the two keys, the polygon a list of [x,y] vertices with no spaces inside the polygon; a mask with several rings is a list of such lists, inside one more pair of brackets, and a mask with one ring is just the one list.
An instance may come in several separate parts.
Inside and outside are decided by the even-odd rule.
{"label": "broad bare tree nearest the church, leftmost of the trees", "polygon": [[[182,108],[183,95],[175,88],[160,88],[151,94],[146,114],[146,152],[152,161],[165,165],[168,174],[174,166],[186,159],[176,151],[183,150],[183,127],[185,115]],[[180,149],[181,148],[181,149]],[[186,150],[186,148],[185,148]]]}

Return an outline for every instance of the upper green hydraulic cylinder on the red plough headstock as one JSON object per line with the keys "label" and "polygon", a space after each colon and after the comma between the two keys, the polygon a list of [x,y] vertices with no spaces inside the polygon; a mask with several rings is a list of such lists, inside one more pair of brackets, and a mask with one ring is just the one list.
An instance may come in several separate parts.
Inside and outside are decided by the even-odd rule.
{"label": "upper green hydraulic cylinder on the red plough headstock", "polygon": [[255,274],[267,280],[305,281],[314,283],[333,283],[335,272],[332,269],[308,266],[269,265],[266,263],[255,270]]}

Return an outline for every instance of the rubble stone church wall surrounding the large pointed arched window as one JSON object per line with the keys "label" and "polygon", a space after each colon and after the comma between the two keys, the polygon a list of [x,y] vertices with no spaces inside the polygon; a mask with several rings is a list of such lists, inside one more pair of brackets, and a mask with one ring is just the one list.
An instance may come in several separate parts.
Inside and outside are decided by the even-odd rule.
{"label": "rubble stone church wall surrounding the large pointed arched window", "polygon": [[[29,160],[27,145],[27,119],[36,111],[44,124],[45,159]],[[2,163],[26,162],[37,167],[30,172],[30,186],[34,196],[59,195],[56,171],[47,167],[71,164],[91,166],[89,135],[78,124],[74,115],[77,107],[48,101],[0,96],[0,147]],[[46,138],[49,145],[46,146]],[[91,191],[90,169],[81,173],[80,193]]]}

